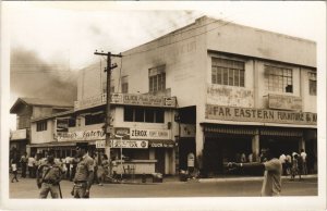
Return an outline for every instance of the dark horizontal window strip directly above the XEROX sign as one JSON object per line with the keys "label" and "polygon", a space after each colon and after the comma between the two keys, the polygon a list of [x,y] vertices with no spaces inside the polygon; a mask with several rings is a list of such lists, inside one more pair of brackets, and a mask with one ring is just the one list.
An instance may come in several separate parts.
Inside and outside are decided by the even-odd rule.
{"label": "dark horizontal window strip directly above the XEROX sign", "polygon": [[165,123],[165,111],[160,108],[125,107],[124,122]]}

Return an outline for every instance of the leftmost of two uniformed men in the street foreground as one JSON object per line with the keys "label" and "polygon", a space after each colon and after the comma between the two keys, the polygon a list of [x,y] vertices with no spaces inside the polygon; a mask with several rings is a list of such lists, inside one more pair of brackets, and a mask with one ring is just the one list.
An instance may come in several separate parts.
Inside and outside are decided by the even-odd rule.
{"label": "leftmost of two uniformed men in the street foreground", "polygon": [[48,194],[51,194],[52,198],[59,198],[61,196],[60,181],[62,177],[62,169],[55,163],[55,157],[52,152],[49,152],[45,164],[40,164],[37,170],[37,186],[40,189],[39,198],[45,199]]}

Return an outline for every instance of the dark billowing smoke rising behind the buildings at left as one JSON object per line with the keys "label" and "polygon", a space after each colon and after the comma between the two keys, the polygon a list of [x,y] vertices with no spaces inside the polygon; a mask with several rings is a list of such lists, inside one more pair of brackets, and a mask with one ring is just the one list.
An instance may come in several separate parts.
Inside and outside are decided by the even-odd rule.
{"label": "dark billowing smoke rising behind the buildings at left", "polygon": [[72,102],[77,97],[77,72],[63,63],[49,64],[34,51],[12,49],[10,89],[17,97]]}

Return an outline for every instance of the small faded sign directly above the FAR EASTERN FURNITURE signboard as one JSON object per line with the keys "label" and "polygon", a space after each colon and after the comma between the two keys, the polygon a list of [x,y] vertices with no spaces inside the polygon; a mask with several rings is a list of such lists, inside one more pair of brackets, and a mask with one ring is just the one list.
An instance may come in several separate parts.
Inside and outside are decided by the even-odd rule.
{"label": "small faded sign directly above the FAR EASTERN FURNITURE signboard", "polygon": [[294,96],[268,95],[269,109],[302,110],[302,98]]}

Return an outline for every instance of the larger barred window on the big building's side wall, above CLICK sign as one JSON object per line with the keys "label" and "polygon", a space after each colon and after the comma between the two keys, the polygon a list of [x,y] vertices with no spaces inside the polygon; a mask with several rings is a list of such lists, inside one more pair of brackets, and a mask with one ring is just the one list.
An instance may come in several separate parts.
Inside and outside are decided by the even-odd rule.
{"label": "larger barred window on the big building's side wall, above CLICK sign", "polygon": [[157,66],[148,70],[149,92],[166,90],[166,66]]}

